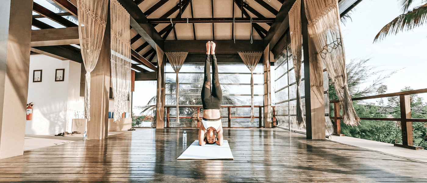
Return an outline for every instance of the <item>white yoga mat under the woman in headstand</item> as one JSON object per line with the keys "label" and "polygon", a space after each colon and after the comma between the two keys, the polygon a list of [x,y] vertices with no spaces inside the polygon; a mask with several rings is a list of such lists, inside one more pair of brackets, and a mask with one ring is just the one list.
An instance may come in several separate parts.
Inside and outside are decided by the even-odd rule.
{"label": "white yoga mat under the woman in headstand", "polygon": [[199,140],[195,140],[177,159],[233,160],[233,154],[231,154],[231,149],[227,140],[224,140],[223,145],[206,144],[203,146],[199,145]]}

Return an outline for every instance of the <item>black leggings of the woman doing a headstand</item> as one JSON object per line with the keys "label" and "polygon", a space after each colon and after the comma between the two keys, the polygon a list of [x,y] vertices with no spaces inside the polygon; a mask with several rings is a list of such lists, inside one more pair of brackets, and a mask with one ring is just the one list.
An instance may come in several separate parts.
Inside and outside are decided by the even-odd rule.
{"label": "black leggings of the woman doing a headstand", "polygon": [[219,109],[222,101],[222,90],[218,79],[218,66],[216,57],[212,55],[212,91],[211,91],[211,67],[209,64],[209,55],[206,55],[205,61],[205,79],[202,86],[202,105],[203,109]]}

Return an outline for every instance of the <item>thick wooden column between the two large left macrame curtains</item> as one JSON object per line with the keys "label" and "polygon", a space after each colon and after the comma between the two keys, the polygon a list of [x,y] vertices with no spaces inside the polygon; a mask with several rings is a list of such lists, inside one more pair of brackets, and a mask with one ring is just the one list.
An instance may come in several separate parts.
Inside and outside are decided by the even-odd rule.
{"label": "thick wooden column between the two large left macrame curtains", "polygon": [[[91,121],[88,121],[88,139],[108,137],[108,106],[110,95],[110,13],[108,8],[107,25],[98,63],[91,72]],[[114,114],[121,115],[121,114]]]}

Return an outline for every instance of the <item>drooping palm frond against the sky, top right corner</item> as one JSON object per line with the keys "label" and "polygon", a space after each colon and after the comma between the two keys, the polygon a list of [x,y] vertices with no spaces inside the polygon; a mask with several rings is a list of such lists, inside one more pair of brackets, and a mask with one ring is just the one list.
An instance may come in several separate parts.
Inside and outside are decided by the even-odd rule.
{"label": "drooping palm frond against the sky, top right corner", "polygon": [[396,35],[398,32],[412,30],[427,23],[427,3],[408,11],[414,0],[400,0],[400,2],[403,14],[384,26],[375,36],[374,42],[384,39],[389,34]]}

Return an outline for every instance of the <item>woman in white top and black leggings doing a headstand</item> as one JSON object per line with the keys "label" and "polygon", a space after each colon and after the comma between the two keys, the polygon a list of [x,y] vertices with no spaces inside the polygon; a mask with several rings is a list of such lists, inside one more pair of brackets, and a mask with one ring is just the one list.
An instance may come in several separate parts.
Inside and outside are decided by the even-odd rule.
{"label": "woman in white top and black leggings doing a headstand", "polygon": [[[211,90],[211,68],[209,57],[212,54],[212,90]],[[221,107],[222,90],[219,85],[218,67],[215,57],[215,43],[208,41],[206,43],[206,61],[205,61],[205,81],[202,86],[202,104],[203,104],[203,119],[199,129],[199,145],[216,143],[222,145],[224,138],[222,137],[222,122]],[[218,134],[218,136],[215,135]],[[206,134],[206,137],[205,137]]]}

